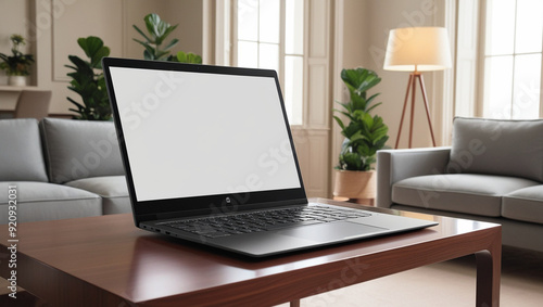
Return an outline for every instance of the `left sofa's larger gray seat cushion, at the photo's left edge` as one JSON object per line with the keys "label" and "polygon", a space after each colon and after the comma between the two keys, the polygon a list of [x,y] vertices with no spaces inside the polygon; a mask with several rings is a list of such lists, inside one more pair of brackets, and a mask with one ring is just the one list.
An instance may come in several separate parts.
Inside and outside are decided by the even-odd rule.
{"label": "left sofa's larger gray seat cushion, at the photo's left edge", "polygon": [[17,222],[102,215],[99,195],[47,182],[0,182],[0,223],[8,223],[8,187],[17,195]]}

